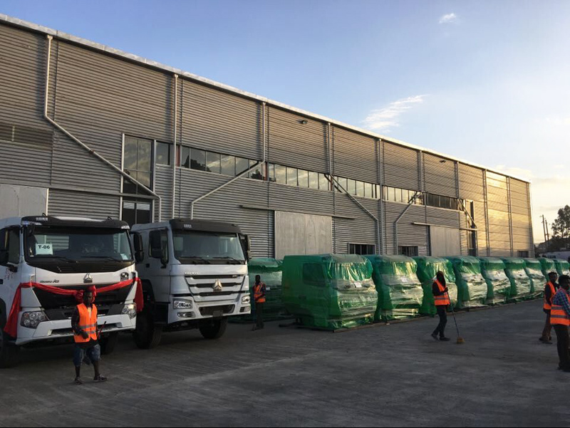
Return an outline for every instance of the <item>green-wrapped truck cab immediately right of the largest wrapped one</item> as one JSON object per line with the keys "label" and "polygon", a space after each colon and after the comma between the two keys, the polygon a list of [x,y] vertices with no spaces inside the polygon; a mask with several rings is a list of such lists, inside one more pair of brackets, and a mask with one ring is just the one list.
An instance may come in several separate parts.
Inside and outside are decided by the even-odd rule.
{"label": "green-wrapped truck cab immediately right of the largest wrapped one", "polygon": [[375,320],[398,320],[417,316],[423,288],[414,259],[406,256],[366,256],[372,263],[372,278],[378,291]]}

